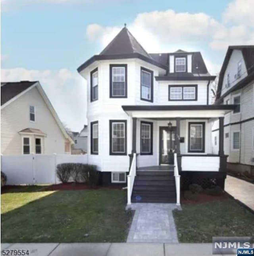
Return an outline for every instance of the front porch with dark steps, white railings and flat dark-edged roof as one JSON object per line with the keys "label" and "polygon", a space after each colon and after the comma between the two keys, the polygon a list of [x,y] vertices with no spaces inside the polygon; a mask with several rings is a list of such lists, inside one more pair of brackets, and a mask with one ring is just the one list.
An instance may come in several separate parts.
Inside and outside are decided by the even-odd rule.
{"label": "front porch with dark steps, white railings and flat dark-edged roof", "polygon": [[[224,188],[226,159],[223,149],[224,115],[235,105],[122,106],[132,117],[132,153],[128,175],[128,204],[166,201],[180,204],[180,177],[189,182],[208,178]],[[212,122],[219,119],[219,151],[213,152]],[[149,182],[138,176],[145,172]],[[150,172],[150,173],[149,173]],[[164,174],[163,174],[164,173]],[[167,173],[167,174],[165,174]],[[166,176],[164,182],[160,176]],[[174,179],[169,176],[174,176]],[[136,177],[137,176],[137,177]],[[154,176],[152,179],[151,176]],[[170,182],[169,182],[170,180]],[[198,182],[194,182],[198,183]],[[139,190],[139,186],[142,186]],[[139,194],[133,193],[140,191]],[[149,190],[148,193],[142,192]],[[173,193],[174,192],[174,193]],[[137,196],[135,197],[135,195]],[[134,195],[134,196],[133,196]],[[170,198],[170,200],[169,200]],[[173,200],[174,198],[174,200]],[[172,200],[171,200],[172,199]]]}

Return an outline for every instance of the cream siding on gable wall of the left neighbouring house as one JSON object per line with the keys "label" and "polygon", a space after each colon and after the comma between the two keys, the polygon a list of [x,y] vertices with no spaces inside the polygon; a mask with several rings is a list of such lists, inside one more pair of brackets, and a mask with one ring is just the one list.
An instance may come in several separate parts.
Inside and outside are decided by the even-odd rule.
{"label": "cream siding on gable wall of the left neighbouring house", "polygon": [[[30,105],[35,106],[36,122],[29,120]],[[18,132],[25,128],[37,128],[46,134],[42,140],[42,153],[65,153],[65,137],[36,87],[1,110],[1,154],[22,153],[21,135]],[[31,152],[35,150],[34,144],[31,136]]]}

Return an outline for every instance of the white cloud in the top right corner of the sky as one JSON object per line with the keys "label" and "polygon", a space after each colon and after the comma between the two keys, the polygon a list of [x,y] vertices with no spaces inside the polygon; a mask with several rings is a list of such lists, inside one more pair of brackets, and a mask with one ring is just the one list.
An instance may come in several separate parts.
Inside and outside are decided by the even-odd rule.
{"label": "white cloud in the top right corner of the sky", "polygon": [[225,21],[236,21],[254,26],[253,10],[253,0],[234,0],[227,5],[224,12],[224,19]]}

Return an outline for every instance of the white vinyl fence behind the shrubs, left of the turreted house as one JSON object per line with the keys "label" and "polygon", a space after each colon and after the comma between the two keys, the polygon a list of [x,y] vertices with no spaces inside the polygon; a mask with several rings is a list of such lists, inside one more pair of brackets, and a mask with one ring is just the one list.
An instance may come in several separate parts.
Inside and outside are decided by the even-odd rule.
{"label": "white vinyl fence behind the shrubs, left of the turreted house", "polygon": [[87,155],[1,155],[1,171],[7,184],[56,184],[56,166],[60,163],[87,163]]}

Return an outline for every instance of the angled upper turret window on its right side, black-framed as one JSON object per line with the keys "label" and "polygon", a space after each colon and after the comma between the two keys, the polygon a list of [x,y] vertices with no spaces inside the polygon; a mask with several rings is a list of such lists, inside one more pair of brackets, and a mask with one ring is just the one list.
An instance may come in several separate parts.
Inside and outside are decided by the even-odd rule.
{"label": "angled upper turret window on its right side, black-framed", "polygon": [[153,101],[153,74],[151,70],[141,67],[141,99]]}

